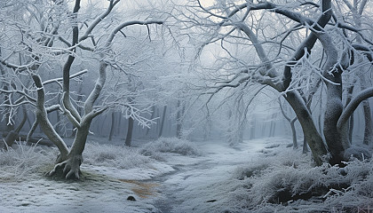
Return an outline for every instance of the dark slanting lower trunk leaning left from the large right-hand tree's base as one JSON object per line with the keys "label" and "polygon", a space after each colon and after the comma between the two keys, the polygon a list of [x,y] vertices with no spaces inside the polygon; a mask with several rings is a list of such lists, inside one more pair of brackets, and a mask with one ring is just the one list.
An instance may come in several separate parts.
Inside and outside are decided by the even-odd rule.
{"label": "dark slanting lower trunk leaning left from the large right-hand tree's base", "polygon": [[289,91],[285,99],[297,114],[298,121],[302,126],[303,134],[305,135],[308,146],[310,146],[313,161],[316,165],[322,164],[323,156],[328,154],[324,146],[320,133],[316,130],[311,114],[309,113],[303,99],[296,91]]}

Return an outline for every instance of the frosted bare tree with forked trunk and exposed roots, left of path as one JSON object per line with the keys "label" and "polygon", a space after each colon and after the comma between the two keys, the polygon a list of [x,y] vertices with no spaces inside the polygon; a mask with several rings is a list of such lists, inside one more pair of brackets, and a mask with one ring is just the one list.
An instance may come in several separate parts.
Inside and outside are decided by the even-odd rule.
{"label": "frosted bare tree with forked trunk and exposed roots, left of path", "polygon": [[[99,114],[104,113],[110,107],[122,107],[126,108],[129,112],[129,116],[134,120],[139,121],[141,124],[148,126],[150,120],[142,116],[142,110],[136,106],[128,103],[126,99],[122,99],[121,96],[107,97],[99,100],[100,94],[103,92],[105,83],[107,82],[107,67],[121,69],[115,61],[115,46],[113,45],[116,40],[115,36],[118,33],[122,33],[123,28],[130,26],[148,26],[152,24],[163,24],[163,20],[128,20],[122,23],[109,25],[109,33],[107,35],[97,35],[99,32],[98,26],[112,13],[115,5],[119,4],[120,0],[110,0],[107,3],[107,9],[99,15],[96,15],[92,20],[83,21],[79,19],[79,12],[81,9],[81,1],[75,0],[74,8],[72,12],[68,12],[68,6],[65,1],[40,1],[39,5],[34,5],[33,2],[26,3],[15,3],[14,5],[24,7],[25,11],[33,12],[28,18],[29,23],[36,23],[40,25],[43,33],[32,33],[30,28],[20,25],[17,20],[14,21],[19,26],[19,31],[12,31],[7,24],[3,23],[4,27],[9,30],[8,37],[23,38],[27,37],[27,42],[23,42],[23,46],[17,49],[12,49],[12,45],[6,47],[7,56],[2,56],[0,61],[5,67],[8,67],[10,72],[21,85],[18,90],[4,90],[3,92],[12,94],[17,93],[21,95],[21,101],[19,104],[11,104],[9,107],[16,107],[23,104],[29,104],[35,106],[36,109],[36,122],[30,131],[36,129],[36,125],[39,125],[44,131],[44,134],[57,146],[60,150],[60,154],[56,160],[54,169],[49,172],[49,175],[55,175],[59,171],[62,171],[63,176],[66,178],[79,178],[80,165],[83,162],[83,150],[89,134],[92,120]],[[30,9],[31,8],[31,9]],[[47,12],[39,11],[45,9]],[[38,18],[40,17],[40,20]],[[68,25],[70,28],[64,28],[66,22],[69,20]],[[43,22],[44,21],[44,22]],[[81,28],[80,25],[86,28]],[[32,28],[32,27],[31,27]],[[12,32],[11,32],[12,31]],[[59,33],[64,31],[64,33]],[[82,31],[82,32],[80,32]],[[96,34],[96,35],[95,35]],[[3,37],[4,38],[4,37]],[[99,38],[98,40],[96,40]],[[125,38],[125,37],[124,37]],[[68,41],[67,39],[71,39]],[[28,43],[28,41],[30,41]],[[13,46],[19,45],[14,41],[9,41]],[[22,45],[22,44],[21,44]],[[29,58],[27,65],[18,65],[13,63],[13,58],[17,57],[18,50],[24,54],[25,57]],[[98,77],[93,84],[90,94],[83,102],[83,112],[79,114],[76,109],[76,103],[72,99],[70,91],[70,80],[80,75],[88,73],[87,69],[83,71],[71,74],[75,67],[75,60],[83,58],[86,52],[94,55],[97,59],[99,67],[97,68]],[[67,57],[67,59],[66,59]],[[63,63],[62,77],[54,78],[47,81],[42,80],[40,74],[43,70],[48,69],[50,65],[49,61],[59,61],[59,59],[66,59]],[[90,69],[92,67],[89,67]],[[31,88],[23,87],[19,75],[25,75],[32,79],[34,86]],[[49,83],[57,83],[60,85],[62,90],[62,98],[59,104],[48,106],[47,91],[45,85]],[[25,90],[36,91],[36,93],[28,94]],[[34,97],[34,95],[36,97]],[[74,101],[74,102],[73,102]],[[100,102],[98,104],[97,102]],[[129,110],[128,110],[129,109]],[[74,143],[71,148],[67,148],[66,143],[60,135],[54,130],[52,123],[50,122],[47,113],[52,110],[59,110],[64,114],[67,119],[73,123],[76,129],[76,135]]]}

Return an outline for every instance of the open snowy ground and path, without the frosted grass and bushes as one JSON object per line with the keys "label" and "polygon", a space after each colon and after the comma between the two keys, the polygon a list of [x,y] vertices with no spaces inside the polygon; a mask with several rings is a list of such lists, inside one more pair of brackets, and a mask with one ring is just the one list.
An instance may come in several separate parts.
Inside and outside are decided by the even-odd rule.
{"label": "open snowy ground and path, without the frosted grass and bushes", "polygon": [[[41,174],[12,179],[0,170],[0,212],[199,212],[196,208],[209,209],[219,199],[203,190],[228,178],[264,145],[251,141],[240,149],[222,142],[195,146],[201,155],[162,153],[161,161],[147,162],[143,168],[83,163],[79,181]],[[129,196],[136,201],[127,200]]]}

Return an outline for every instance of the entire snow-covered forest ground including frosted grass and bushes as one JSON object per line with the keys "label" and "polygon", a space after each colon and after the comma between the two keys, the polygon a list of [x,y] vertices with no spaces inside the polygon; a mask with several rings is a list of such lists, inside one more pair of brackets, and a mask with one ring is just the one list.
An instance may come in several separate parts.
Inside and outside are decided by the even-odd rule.
{"label": "entire snow-covered forest ground including frosted grass and bushes", "polygon": [[[351,162],[343,170],[313,168],[309,154],[287,147],[287,138],[254,139],[234,148],[176,138],[138,142],[135,148],[91,140],[79,181],[43,176],[52,168],[54,149],[20,146],[1,153],[0,212],[367,212],[373,207],[371,162]],[[320,199],[317,194],[299,199],[321,189],[327,191]]]}

